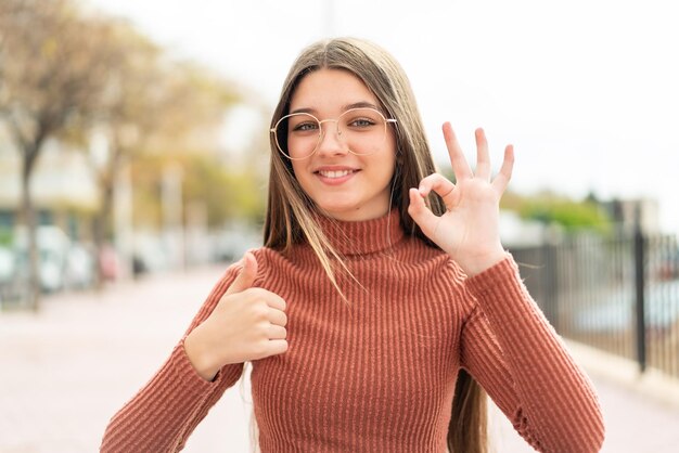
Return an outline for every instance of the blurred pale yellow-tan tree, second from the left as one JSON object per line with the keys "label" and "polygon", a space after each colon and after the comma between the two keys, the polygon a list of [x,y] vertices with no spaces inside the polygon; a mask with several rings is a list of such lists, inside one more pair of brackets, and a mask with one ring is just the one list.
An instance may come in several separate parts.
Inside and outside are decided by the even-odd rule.
{"label": "blurred pale yellow-tan tree, second from the left", "polygon": [[115,30],[124,57],[110,70],[113,89],[101,117],[107,157],[104,165],[92,166],[100,189],[97,249],[113,235],[113,196],[121,167],[155,155],[161,164],[146,176],[158,178],[168,160],[214,151],[215,140],[203,143],[201,132],[220,126],[227,107],[239,100],[230,83],[207,69],[169,61],[163,49],[125,24],[116,24]]}

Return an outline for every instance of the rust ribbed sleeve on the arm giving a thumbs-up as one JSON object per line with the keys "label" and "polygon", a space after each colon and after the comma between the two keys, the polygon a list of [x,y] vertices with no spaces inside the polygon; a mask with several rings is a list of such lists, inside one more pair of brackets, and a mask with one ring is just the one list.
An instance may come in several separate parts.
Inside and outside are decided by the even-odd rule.
{"label": "rust ribbed sleeve on the arm giving a thumbs-up", "polygon": [[243,364],[222,367],[213,381],[195,371],[183,348],[185,336],[209,316],[233,283],[231,267],[193,319],[185,335],[151,380],[108,423],[101,452],[176,452],[225,390],[243,373]]}

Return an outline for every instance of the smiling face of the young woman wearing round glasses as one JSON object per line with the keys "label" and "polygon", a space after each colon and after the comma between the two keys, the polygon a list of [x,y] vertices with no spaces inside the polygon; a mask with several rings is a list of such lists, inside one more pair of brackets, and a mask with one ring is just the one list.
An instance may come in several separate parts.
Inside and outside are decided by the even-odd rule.
{"label": "smiling face of the young woman wearing round glasses", "polygon": [[[316,152],[307,158],[292,160],[295,177],[317,206],[345,221],[374,219],[387,213],[396,159],[393,125],[387,124],[383,140],[375,141],[374,132],[366,132],[371,127],[370,118],[353,116],[361,111],[343,115],[356,106],[381,111],[368,87],[342,69],[319,69],[305,76],[290,104],[291,114],[305,112],[322,121]],[[336,118],[341,118],[340,124],[334,121]],[[330,121],[324,121],[328,119]],[[291,124],[290,128],[293,127],[300,132],[298,142],[293,135],[289,137],[291,155],[296,151],[296,143],[310,140],[304,138],[309,127]],[[342,132],[337,133],[338,130]]]}

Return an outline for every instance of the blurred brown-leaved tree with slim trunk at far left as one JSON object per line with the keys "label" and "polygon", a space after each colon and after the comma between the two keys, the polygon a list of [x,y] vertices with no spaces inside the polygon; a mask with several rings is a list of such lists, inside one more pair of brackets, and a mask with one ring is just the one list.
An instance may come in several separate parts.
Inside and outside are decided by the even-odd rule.
{"label": "blurred brown-leaved tree with slim trunk at far left", "polygon": [[36,216],[30,179],[49,139],[101,109],[108,68],[120,53],[113,29],[85,20],[69,0],[2,0],[0,7],[0,119],[22,163],[22,220],[28,232],[26,303],[39,305]]}

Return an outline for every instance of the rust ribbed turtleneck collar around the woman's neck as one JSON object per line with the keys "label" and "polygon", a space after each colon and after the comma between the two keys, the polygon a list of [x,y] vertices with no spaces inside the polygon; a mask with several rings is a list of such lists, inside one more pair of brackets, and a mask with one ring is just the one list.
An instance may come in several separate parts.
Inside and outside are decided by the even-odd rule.
{"label": "rust ribbed turtleneck collar around the woman's neck", "polygon": [[332,245],[344,256],[383,251],[405,236],[398,209],[371,220],[349,222],[319,217],[318,221]]}

